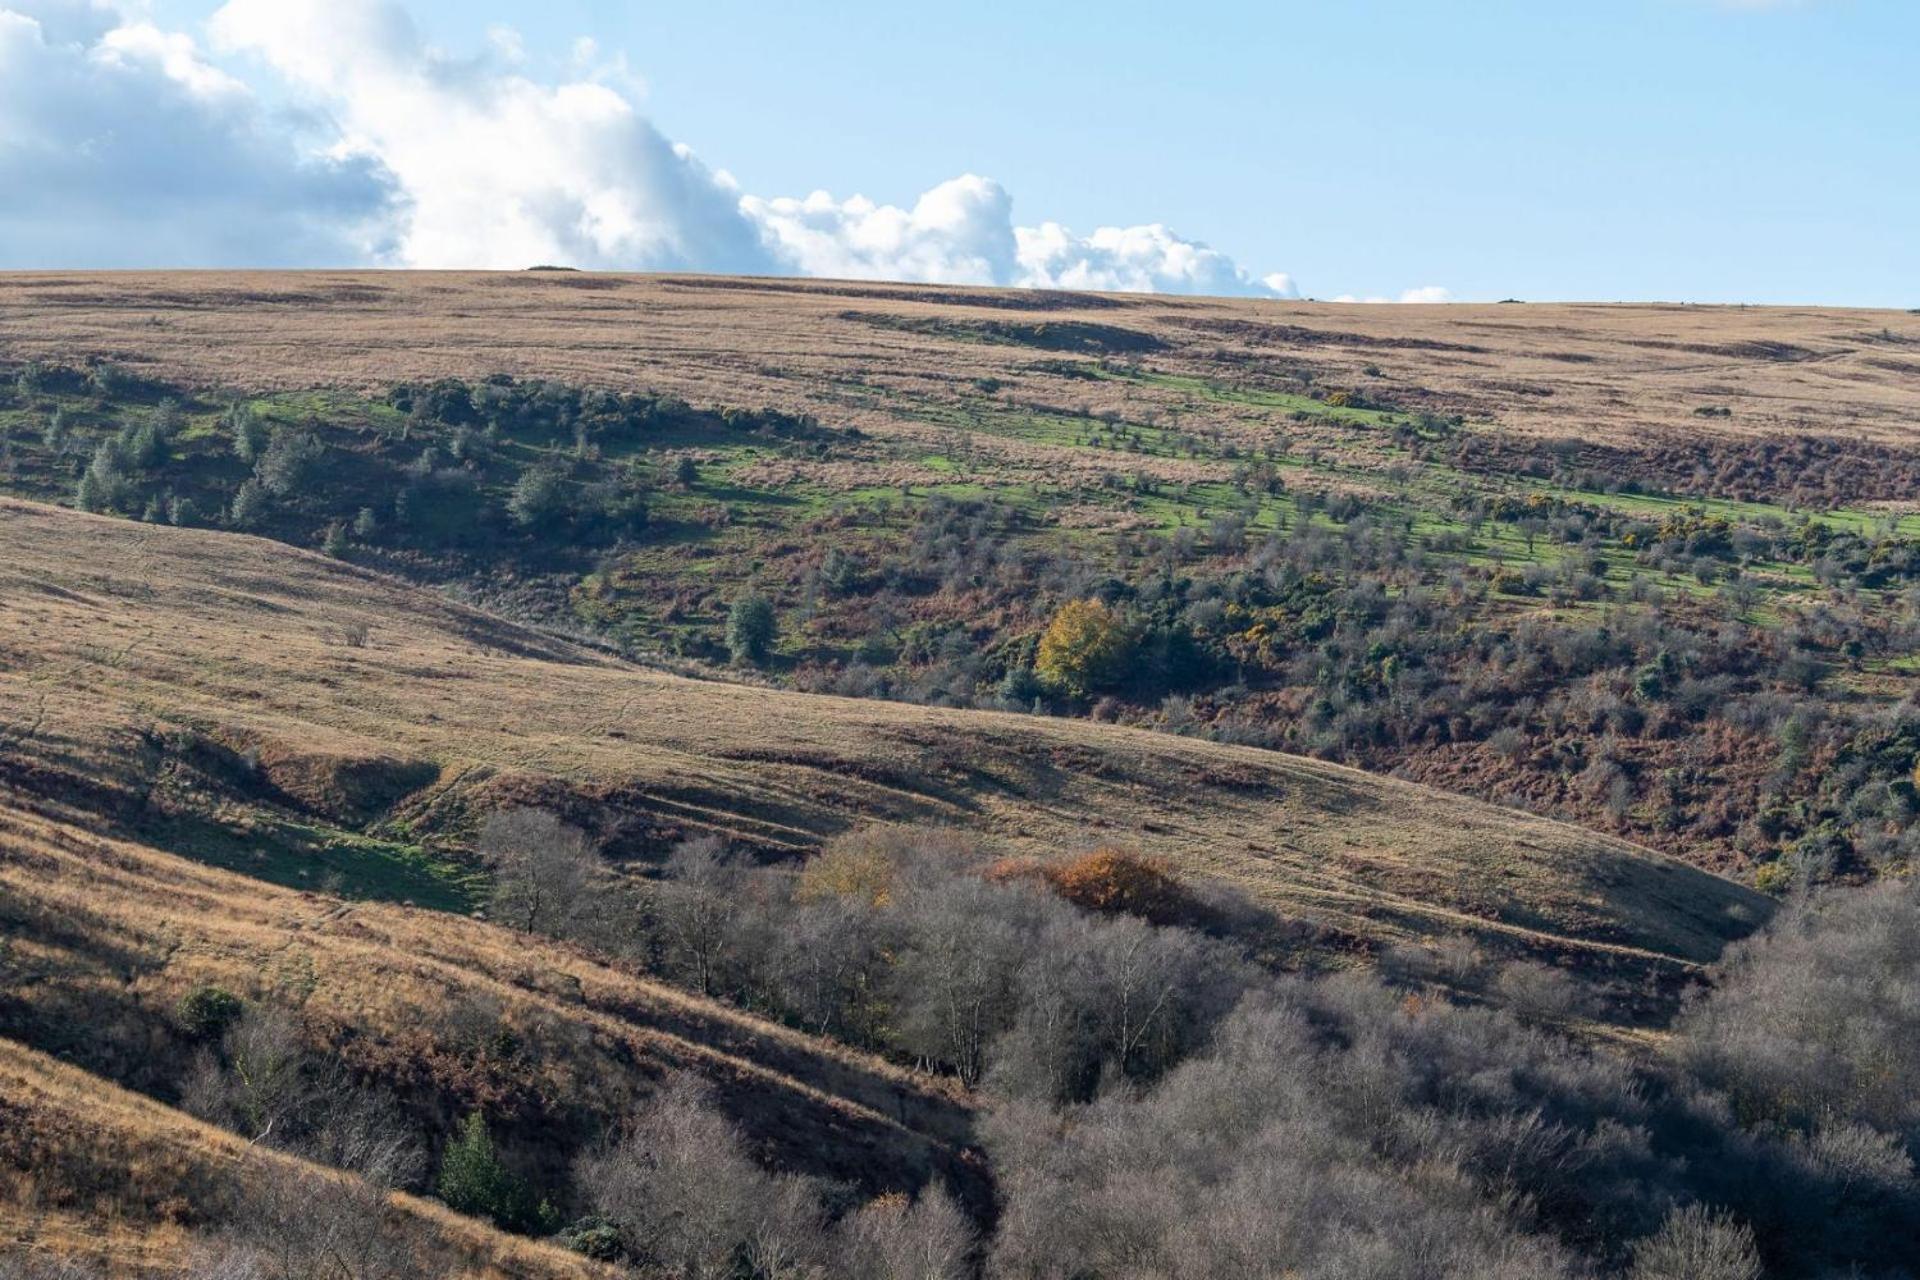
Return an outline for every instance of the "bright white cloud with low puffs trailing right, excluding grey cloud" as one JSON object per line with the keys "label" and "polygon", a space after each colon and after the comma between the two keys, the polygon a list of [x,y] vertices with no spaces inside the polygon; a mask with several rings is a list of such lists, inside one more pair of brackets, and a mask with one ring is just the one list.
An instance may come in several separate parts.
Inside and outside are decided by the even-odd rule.
{"label": "bright white cloud with low puffs trailing right, excluding grey cloud", "polygon": [[[390,0],[228,0],[227,50],[265,58],[317,96],[342,152],[378,159],[407,200],[399,259],[417,267],[797,271],[814,276],[1035,284],[1079,290],[1283,294],[1225,253],[1165,226],[1016,226],[991,178],[962,175],[910,209],[862,196],[743,196],[724,171],[668,142],[595,46],[586,79],[543,86],[428,50]],[[509,63],[520,46],[495,31]],[[1269,284],[1277,282],[1277,284]]]}

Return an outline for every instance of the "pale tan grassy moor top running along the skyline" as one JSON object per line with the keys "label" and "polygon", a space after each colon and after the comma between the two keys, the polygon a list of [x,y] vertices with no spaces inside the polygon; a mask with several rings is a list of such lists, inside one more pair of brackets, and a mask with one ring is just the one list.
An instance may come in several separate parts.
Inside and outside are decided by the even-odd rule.
{"label": "pale tan grassy moor top running along the skyline", "polygon": [[[578,273],[0,274],[0,355],[79,355],[198,386],[361,386],[495,372],[657,388],[912,430],[900,397],[979,380],[1060,395],[1046,357],[1165,374],[1309,370],[1404,409],[1617,447],[1818,434],[1914,445],[1920,317],[1686,305],[1371,307],[826,280]],[[1190,388],[1081,384],[1094,411],[1231,424]],[[1699,416],[1703,409],[1722,416]]]}

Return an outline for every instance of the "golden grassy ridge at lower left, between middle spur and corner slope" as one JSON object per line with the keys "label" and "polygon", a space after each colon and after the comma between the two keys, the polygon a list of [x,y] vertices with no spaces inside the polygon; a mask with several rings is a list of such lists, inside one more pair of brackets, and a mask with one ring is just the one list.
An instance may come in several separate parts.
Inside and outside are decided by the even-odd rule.
{"label": "golden grassy ridge at lower left, between middle spur and corner slope", "polygon": [[482,1002],[530,1042],[566,1046],[541,1067],[564,1079],[538,1090],[568,1113],[611,1126],[693,1071],[787,1167],[881,1190],[960,1180],[970,1107],[927,1079],[495,925],[340,906],[4,804],[0,906],[12,963],[40,975],[0,1000],[6,1023],[113,1079],[138,1080],[142,1063],[111,1029],[163,1019],[202,984],[298,1002],[309,1034],[367,1071],[394,1052],[432,1061],[424,1029]]}

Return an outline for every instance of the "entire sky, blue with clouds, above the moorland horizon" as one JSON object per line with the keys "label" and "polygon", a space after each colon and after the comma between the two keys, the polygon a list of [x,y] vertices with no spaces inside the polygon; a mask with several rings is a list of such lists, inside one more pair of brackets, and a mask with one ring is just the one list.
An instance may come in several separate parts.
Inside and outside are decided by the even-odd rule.
{"label": "entire sky, blue with clouds, above the moorland horizon", "polygon": [[1912,0],[0,0],[0,269],[1920,307]]}

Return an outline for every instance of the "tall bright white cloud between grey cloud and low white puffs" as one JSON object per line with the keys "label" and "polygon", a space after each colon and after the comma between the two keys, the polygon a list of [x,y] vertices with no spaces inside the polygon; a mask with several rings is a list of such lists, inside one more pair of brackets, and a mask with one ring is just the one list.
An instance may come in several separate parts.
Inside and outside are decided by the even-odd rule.
{"label": "tall bright white cloud between grey cloud and low white puffs", "polygon": [[230,0],[211,27],[324,104],[336,154],[394,175],[411,267],[778,267],[732,182],[609,84],[449,59],[382,0]]}

